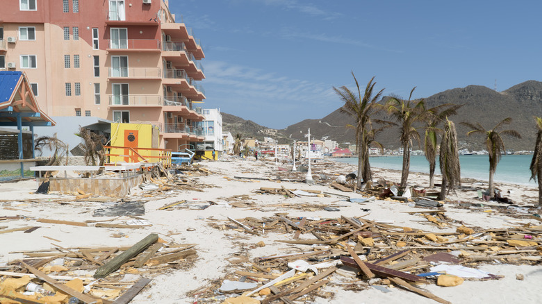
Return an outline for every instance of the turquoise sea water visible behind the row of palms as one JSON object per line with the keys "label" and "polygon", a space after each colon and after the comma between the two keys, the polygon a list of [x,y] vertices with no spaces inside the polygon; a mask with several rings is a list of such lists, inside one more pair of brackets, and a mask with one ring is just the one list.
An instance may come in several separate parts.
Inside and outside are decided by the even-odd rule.
{"label": "turquoise sea water visible behind the row of palms", "polygon": [[[334,158],[338,162],[347,162],[348,164],[357,164],[357,158]],[[519,185],[538,184],[534,180],[529,180],[531,171],[532,155],[502,155],[497,171],[495,172],[495,182],[514,183]],[[402,155],[397,156],[377,156],[369,159],[371,167],[382,169],[401,170]],[[489,159],[487,155],[460,155],[461,177],[475,178],[477,180],[489,180]],[[410,171],[429,173],[429,162],[425,156],[411,156]],[[438,169],[438,158],[436,160],[435,174],[441,174]],[[435,183],[440,181],[435,180]]]}

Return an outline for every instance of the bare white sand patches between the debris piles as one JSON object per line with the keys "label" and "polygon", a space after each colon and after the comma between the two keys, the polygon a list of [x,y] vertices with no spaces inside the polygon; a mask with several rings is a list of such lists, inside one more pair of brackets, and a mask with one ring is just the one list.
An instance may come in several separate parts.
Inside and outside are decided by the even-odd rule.
{"label": "bare white sand patches between the debris piles", "polygon": [[[113,229],[113,228],[95,228],[76,227],[67,225],[56,225],[49,223],[38,223],[36,220],[40,217],[48,219],[62,219],[67,221],[86,221],[99,218],[92,217],[97,208],[103,208],[104,203],[94,202],[69,202],[65,204],[59,201],[70,201],[73,196],[67,195],[38,195],[31,194],[37,188],[33,181],[24,181],[18,183],[0,183],[0,216],[24,215],[28,217],[24,220],[0,221],[0,226],[8,226],[7,229],[19,228],[23,226],[41,226],[33,233],[24,234],[22,231],[15,233],[6,233],[0,235],[0,262],[8,262],[22,258],[19,253],[10,253],[13,251],[28,251],[53,248],[55,243],[43,236],[58,239],[58,243],[63,247],[78,246],[131,246],[138,242],[149,233],[158,233],[166,242],[177,242],[179,244],[197,244],[197,260],[192,268],[186,270],[172,269],[163,275],[156,276],[152,282],[145,288],[131,303],[192,303],[192,298],[188,298],[186,293],[199,287],[210,286],[213,280],[220,280],[227,274],[236,270],[247,270],[249,263],[231,264],[229,257],[246,256],[249,260],[254,257],[265,255],[275,255],[277,253],[291,253],[299,251],[309,251],[311,248],[304,245],[289,245],[274,242],[279,239],[291,239],[291,235],[277,235],[276,233],[265,233],[258,237],[247,233],[240,233],[236,230],[217,230],[208,226],[213,219],[218,223],[224,223],[226,217],[234,219],[243,219],[245,217],[270,217],[278,212],[288,212],[289,217],[331,217],[336,218],[341,215],[347,217],[359,217],[368,212],[361,210],[369,208],[371,210],[365,218],[370,220],[386,219],[393,220],[393,225],[409,226],[425,231],[451,232],[454,227],[438,229],[436,226],[429,225],[419,215],[402,213],[403,211],[416,210],[409,207],[407,203],[393,201],[375,201],[366,204],[349,203],[339,201],[337,197],[316,198],[299,197],[286,199],[279,195],[261,195],[253,191],[260,187],[281,187],[297,189],[315,189],[325,192],[334,192],[344,194],[336,189],[331,189],[327,185],[306,185],[304,183],[282,182],[276,183],[270,180],[259,180],[252,183],[243,183],[236,180],[227,180],[224,176],[233,178],[233,176],[252,176],[258,178],[273,178],[277,174],[283,174],[283,171],[277,170],[273,162],[254,162],[252,160],[233,160],[202,162],[202,165],[210,171],[217,172],[209,176],[197,178],[199,183],[207,185],[216,185],[220,187],[204,188],[204,192],[171,192],[165,199],[149,201],[145,204],[146,214],[143,218],[151,221],[153,226],[145,229]],[[284,167],[290,168],[291,165],[284,164]],[[318,167],[317,167],[318,168]],[[327,169],[314,169],[313,174],[324,173],[330,178],[338,172],[350,173],[353,168],[347,164],[334,163]],[[299,180],[303,179],[304,173],[297,173]],[[375,180],[386,178],[398,182],[400,172],[382,171],[375,169]],[[424,174],[411,174],[409,180],[411,185],[427,186],[428,178]],[[436,178],[436,182],[440,180]],[[465,186],[463,184],[463,186]],[[476,185],[475,185],[476,186]],[[537,202],[537,189],[530,189],[520,185],[498,184],[498,187],[504,193],[512,189],[509,196],[518,205],[533,205]],[[225,198],[233,195],[247,194],[251,201],[259,208],[258,210],[249,210],[246,208],[231,208],[227,205]],[[141,199],[141,192],[137,192],[133,200]],[[346,194],[352,197],[363,197],[360,194]],[[476,191],[458,191],[457,194],[449,196],[450,201],[481,203],[477,199]],[[38,200],[37,202],[25,202],[25,199]],[[176,209],[157,210],[167,203],[186,200],[188,202],[206,202],[213,201],[219,205],[212,205],[205,210]],[[220,205],[224,203],[225,205]],[[303,211],[288,210],[286,208],[272,207],[279,203],[308,203],[308,204],[328,204],[336,205],[340,212],[327,212],[325,210]],[[484,202],[487,204],[487,202]],[[491,203],[490,203],[491,204]],[[466,226],[476,226],[480,228],[508,228],[518,223],[536,223],[533,219],[516,219],[509,215],[517,214],[512,211],[510,214],[504,212],[484,212],[486,210],[500,210],[505,204],[493,203],[495,208],[483,208],[482,210],[457,209],[452,208],[454,203],[445,204],[445,213],[447,217],[457,221],[463,221]],[[17,210],[10,210],[10,209]],[[126,219],[126,218],[124,218]],[[115,221],[114,223],[120,223]],[[192,228],[193,231],[187,230]],[[190,229],[190,230],[192,230]],[[1,231],[1,230],[0,230]],[[112,237],[115,233],[124,233],[126,237]],[[302,238],[313,239],[312,235],[302,235]],[[257,242],[263,241],[266,246],[254,246]],[[436,296],[444,298],[452,303],[541,303],[541,296],[538,290],[542,282],[542,267],[529,265],[509,265],[509,264],[482,264],[479,269],[489,271],[493,274],[503,275],[501,280],[471,281],[467,280],[457,287],[438,287],[436,285],[423,285]],[[93,273],[93,272],[90,272]],[[516,280],[516,273],[525,276],[525,280]],[[343,282],[347,279],[338,275],[331,277],[331,282]],[[334,292],[334,298],[317,298],[315,303],[436,303],[429,298],[424,298],[418,294],[407,292],[397,287],[388,287],[390,293],[380,292],[377,289],[369,288],[361,292],[345,291],[343,285],[332,285],[325,287],[327,292]]]}

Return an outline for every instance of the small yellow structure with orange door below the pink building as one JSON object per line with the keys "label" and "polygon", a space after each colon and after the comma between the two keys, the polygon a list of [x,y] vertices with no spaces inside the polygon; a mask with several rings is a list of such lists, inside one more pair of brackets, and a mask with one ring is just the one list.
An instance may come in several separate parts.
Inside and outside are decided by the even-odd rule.
{"label": "small yellow structure with orange door below the pink building", "polygon": [[110,150],[109,162],[136,162],[136,159],[142,161],[141,158],[130,157],[134,154],[133,151],[148,159],[149,162],[157,162],[156,157],[159,156],[159,151],[150,149],[158,148],[160,144],[158,135],[159,129],[151,124],[111,124],[110,146],[122,148]]}

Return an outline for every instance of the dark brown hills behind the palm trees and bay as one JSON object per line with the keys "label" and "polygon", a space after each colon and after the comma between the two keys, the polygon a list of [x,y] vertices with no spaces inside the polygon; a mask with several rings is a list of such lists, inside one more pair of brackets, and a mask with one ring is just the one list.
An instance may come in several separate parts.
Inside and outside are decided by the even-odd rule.
{"label": "dark brown hills behind the palm trees and bay", "polygon": [[[471,150],[484,149],[482,136],[467,137],[468,128],[459,122],[469,121],[479,123],[484,128],[493,128],[495,124],[506,117],[512,117],[512,123],[504,126],[505,129],[517,130],[522,139],[504,137],[507,149],[532,150],[536,141],[536,127],[534,116],[542,116],[542,83],[539,81],[526,81],[503,92],[496,92],[488,87],[469,85],[468,87],[446,90],[429,96],[425,99],[427,107],[443,103],[462,104],[458,114],[450,117],[456,123],[458,141],[461,148]],[[354,142],[354,131],[346,129],[346,124],[354,124],[354,119],[338,109],[322,119],[306,119],[297,124],[281,130],[285,137],[302,139],[307,128],[316,138],[329,137],[337,142]],[[390,128],[377,138],[386,148],[399,147],[398,129]],[[416,143],[414,144],[417,145]]]}

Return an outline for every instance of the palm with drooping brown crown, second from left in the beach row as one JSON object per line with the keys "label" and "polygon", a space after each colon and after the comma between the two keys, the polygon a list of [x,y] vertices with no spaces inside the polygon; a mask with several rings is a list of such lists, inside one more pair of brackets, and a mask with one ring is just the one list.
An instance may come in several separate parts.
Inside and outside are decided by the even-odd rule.
{"label": "palm with drooping brown crown, second from left in the beach row", "polygon": [[418,102],[411,100],[414,90],[416,90],[416,87],[413,87],[410,91],[409,99],[405,100],[398,96],[391,96],[384,105],[386,112],[400,125],[400,142],[403,148],[401,187],[406,187],[409,179],[411,142],[413,139],[418,140],[418,143],[420,142],[420,134],[413,124],[422,119],[425,110],[423,99]]}

